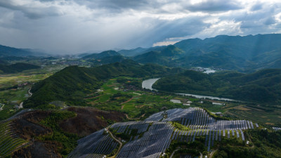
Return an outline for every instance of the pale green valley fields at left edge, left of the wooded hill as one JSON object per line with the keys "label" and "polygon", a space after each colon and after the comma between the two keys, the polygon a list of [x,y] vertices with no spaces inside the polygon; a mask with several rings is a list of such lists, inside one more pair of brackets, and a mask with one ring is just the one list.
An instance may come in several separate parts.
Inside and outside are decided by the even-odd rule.
{"label": "pale green valley fields at left edge, left of the wooded hill", "polygon": [[26,70],[16,74],[0,74],[0,103],[4,104],[4,108],[0,110],[0,120],[11,117],[15,112],[18,112],[18,107],[24,101],[31,85],[13,88],[18,84],[35,83],[42,79],[50,77],[53,73],[63,69],[64,65],[49,65],[38,70]]}

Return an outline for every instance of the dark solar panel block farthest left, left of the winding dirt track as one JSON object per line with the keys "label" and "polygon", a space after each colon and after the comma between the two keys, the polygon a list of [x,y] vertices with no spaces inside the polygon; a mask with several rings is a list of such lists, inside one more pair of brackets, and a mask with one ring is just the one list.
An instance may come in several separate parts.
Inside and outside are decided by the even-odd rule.
{"label": "dark solar panel block farthest left, left of the winding dirt track", "polygon": [[104,129],[78,140],[78,145],[68,157],[97,157],[110,154],[118,145]]}

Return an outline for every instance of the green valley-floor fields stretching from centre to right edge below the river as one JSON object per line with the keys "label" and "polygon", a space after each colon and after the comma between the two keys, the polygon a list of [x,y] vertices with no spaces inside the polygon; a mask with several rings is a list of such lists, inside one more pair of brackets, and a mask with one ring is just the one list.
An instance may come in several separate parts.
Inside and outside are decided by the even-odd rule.
{"label": "green valley-floor fields stretching from centre to right edge below the river", "polygon": [[[122,79],[122,82],[118,80]],[[102,110],[118,110],[128,114],[129,118],[148,117],[150,114],[172,108],[202,107],[211,112],[222,112],[228,117],[234,119],[251,119],[259,124],[277,124],[281,122],[281,110],[265,111],[255,108],[249,108],[248,103],[204,100],[191,98],[188,96],[177,96],[166,93],[153,93],[143,91],[141,88],[128,88],[124,85],[130,81],[138,81],[141,85],[142,79],[133,77],[117,77],[110,79],[103,84],[100,91],[93,97],[85,98],[90,106]],[[170,100],[181,100],[181,104],[171,103]],[[183,105],[191,101],[190,106]],[[220,103],[216,105],[213,103]],[[264,115],[260,117],[260,114]]]}

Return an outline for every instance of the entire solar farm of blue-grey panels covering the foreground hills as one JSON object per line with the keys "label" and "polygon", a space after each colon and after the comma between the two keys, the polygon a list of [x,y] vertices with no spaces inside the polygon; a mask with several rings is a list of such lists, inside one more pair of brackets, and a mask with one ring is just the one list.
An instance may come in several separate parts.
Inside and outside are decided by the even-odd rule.
{"label": "entire solar farm of blue-grey panels covering the foreground hills", "polygon": [[[171,124],[176,121],[190,130],[181,131]],[[243,130],[254,129],[258,124],[247,120],[216,120],[199,107],[172,109],[152,114],[144,121],[115,123],[111,131],[129,136],[123,141],[121,150],[114,153],[116,157],[160,157],[172,141],[193,142],[204,137],[207,151],[211,151],[215,141],[235,137],[245,140]],[[134,131],[134,134],[132,134]],[[105,130],[92,133],[78,140],[78,145],[69,157],[105,157],[117,150],[118,143]]]}

